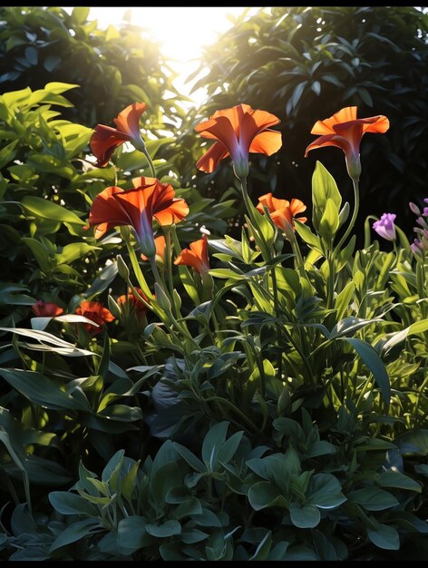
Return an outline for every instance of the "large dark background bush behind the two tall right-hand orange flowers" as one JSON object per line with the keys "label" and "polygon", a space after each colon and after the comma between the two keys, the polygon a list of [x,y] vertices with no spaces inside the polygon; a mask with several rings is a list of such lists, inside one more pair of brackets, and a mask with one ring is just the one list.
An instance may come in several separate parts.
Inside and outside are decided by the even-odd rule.
{"label": "large dark background bush behind the two tall right-hand orange flowers", "polygon": [[[280,118],[283,147],[274,158],[254,155],[253,197],[275,191],[310,203],[316,160],[336,178],[344,199],[351,198],[345,160],[336,148],[310,152],[310,131],[345,106],[358,117],[386,115],[390,130],[367,134],[361,145],[363,173],[360,237],[368,214],[397,213],[396,222],[412,232],[408,201],[426,197],[428,175],[428,26],[413,6],[277,6],[241,17],[201,58],[199,81],[207,99],[189,116],[182,147],[200,152],[194,124],[220,108],[248,103]],[[207,70],[209,72],[207,73]],[[228,161],[225,161],[228,162]],[[211,183],[214,180],[214,183]],[[233,184],[226,165],[213,175],[199,173],[199,187],[210,193]]]}

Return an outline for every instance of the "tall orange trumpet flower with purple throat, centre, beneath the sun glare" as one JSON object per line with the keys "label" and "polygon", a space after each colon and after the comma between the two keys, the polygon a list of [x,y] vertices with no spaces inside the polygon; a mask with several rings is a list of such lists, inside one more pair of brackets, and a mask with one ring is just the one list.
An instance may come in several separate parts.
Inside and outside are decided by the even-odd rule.
{"label": "tall orange trumpet flower with purple throat, centre, beneath the sun glare", "polygon": [[220,160],[231,156],[235,175],[246,178],[248,152],[270,156],[281,147],[281,132],[269,130],[269,126],[278,122],[274,114],[254,111],[249,104],[217,111],[208,121],[199,122],[195,127],[204,138],[217,141],[199,159],[196,167],[210,173]]}

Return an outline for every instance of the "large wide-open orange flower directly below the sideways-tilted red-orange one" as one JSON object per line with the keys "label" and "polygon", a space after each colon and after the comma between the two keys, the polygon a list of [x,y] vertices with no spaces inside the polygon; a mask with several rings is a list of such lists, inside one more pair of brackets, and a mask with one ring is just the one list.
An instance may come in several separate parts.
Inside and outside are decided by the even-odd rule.
{"label": "large wide-open orange flower directly below the sideways-tilted red-orange one", "polygon": [[183,199],[174,199],[169,183],[140,177],[132,184],[132,190],[113,186],[99,193],[92,202],[89,224],[95,225],[96,239],[112,227],[131,225],[142,252],[152,257],[156,254],[153,217],[160,225],[170,225],[184,219],[189,207]]}

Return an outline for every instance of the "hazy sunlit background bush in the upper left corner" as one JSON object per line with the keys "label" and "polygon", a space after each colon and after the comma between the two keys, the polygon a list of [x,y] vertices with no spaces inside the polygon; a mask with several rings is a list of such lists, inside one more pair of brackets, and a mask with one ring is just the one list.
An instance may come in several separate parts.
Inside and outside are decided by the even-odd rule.
{"label": "hazy sunlit background bush in the upper left corner", "polygon": [[70,95],[74,106],[63,117],[91,128],[111,124],[135,101],[148,105],[143,118],[150,118],[151,132],[163,121],[180,120],[180,95],[159,45],[126,19],[102,30],[90,15],[83,6],[72,14],[58,6],[1,7],[0,90],[78,84]]}

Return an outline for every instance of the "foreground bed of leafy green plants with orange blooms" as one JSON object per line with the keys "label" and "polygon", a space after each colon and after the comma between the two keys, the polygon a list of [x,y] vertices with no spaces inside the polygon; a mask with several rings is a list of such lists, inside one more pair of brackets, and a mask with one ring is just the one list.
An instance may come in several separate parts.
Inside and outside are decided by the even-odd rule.
{"label": "foreground bed of leafy green plants with orange blooms", "polygon": [[2,559],[422,559],[428,200],[411,238],[358,215],[387,116],[316,121],[310,202],[248,192],[253,156],[287,151],[275,114],[195,124],[237,239],[228,196],[156,158],[146,103],[89,128],[61,116],[73,87],[0,97]]}

